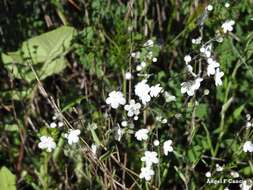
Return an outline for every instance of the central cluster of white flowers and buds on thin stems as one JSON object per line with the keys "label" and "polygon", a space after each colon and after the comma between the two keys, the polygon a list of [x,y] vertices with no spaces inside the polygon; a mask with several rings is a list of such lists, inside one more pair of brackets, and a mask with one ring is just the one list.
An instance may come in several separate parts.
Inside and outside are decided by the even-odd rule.
{"label": "central cluster of white flowers and buds on thin stems", "polygon": [[[141,52],[133,52],[131,57],[140,62],[140,65],[136,67],[137,71],[142,70],[147,66],[147,62],[157,62],[157,58],[153,56],[152,47],[154,46],[153,40],[148,40],[144,43],[143,47],[146,48],[147,51],[145,54],[145,58],[143,58],[143,54]],[[190,57],[188,57],[189,59]],[[186,57],[187,59],[187,57]],[[191,60],[186,60],[191,61]],[[110,105],[113,109],[117,109],[120,105],[124,105],[124,110],[127,112],[127,116],[130,121],[126,121],[125,118],[121,121],[120,124],[117,124],[115,127],[115,139],[120,141],[124,132],[127,131],[126,127],[131,126],[132,118],[134,120],[138,120],[138,116],[141,113],[141,108],[145,109],[145,106],[151,101],[151,99],[159,97],[162,93],[164,99],[167,103],[175,101],[176,97],[171,95],[169,92],[164,91],[160,84],[149,85],[148,84],[148,74],[138,74],[137,76],[144,76],[140,82],[134,85],[134,94],[131,96],[138,97],[139,100],[136,100],[132,97],[129,98],[129,102],[126,101],[122,92],[120,91],[112,91],[109,93],[109,96],[106,98],[106,104]],[[131,80],[133,78],[132,73],[125,73],[125,80]],[[200,83],[199,80],[196,80],[197,83]],[[195,88],[198,88],[198,84],[194,84]],[[138,102],[139,101],[139,102]],[[162,118],[158,116],[157,121],[166,124],[168,121],[166,118]],[[123,127],[123,128],[121,128]],[[147,141],[149,139],[149,133],[151,133],[148,128],[141,128],[135,131],[135,138],[137,141]],[[158,139],[153,141],[153,146],[159,146],[160,142]],[[173,151],[172,140],[167,140],[163,143],[163,151],[164,155],[168,155],[169,152]],[[145,180],[151,180],[152,176],[155,174],[153,170],[153,165],[159,162],[157,152],[154,151],[145,151],[144,156],[141,157],[141,161],[144,162],[144,166],[141,168],[141,172],[139,174],[140,178],[144,178]]]}

